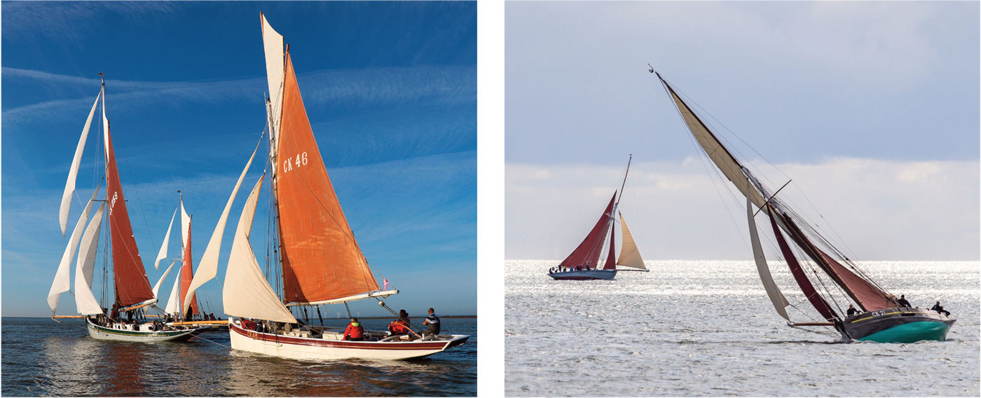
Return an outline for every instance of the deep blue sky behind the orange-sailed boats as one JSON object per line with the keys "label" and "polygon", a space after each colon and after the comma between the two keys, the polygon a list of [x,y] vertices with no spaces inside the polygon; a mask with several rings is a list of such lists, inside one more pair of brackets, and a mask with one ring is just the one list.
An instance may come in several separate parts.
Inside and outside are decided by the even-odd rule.
{"label": "deep blue sky behind the orange-sailed boats", "polygon": [[[67,241],[58,227],[58,204],[100,72],[107,77],[120,174],[150,282],[163,273],[152,263],[179,189],[194,216],[197,266],[266,121],[260,11],[290,45],[328,173],[369,264],[380,281],[384,274],[401,290],[389,305],[414,315],[431,306],[443,315],[476,314],[474,3],[2,7],[4,316],[50,313],[44,297]],[[89,134],[79,197],[97,183],[97,136]],[[263,172],[262,156],[260,149],[232,207],[219,279],[241,205]],[[266,201],[264,193],[260,203]],[[76,202],[69,228],[80,209]],[[266,212],[260,206],[253,224],[260,264]],[[179,242],[171,237],[171,257]],[[165,282],[161,291],[169,292],[170,285]],[[219,283],[210,281],[201,291],[220,313]],[[64,294],[59,313],[73,314],[74,307]],[[385,315],[374,302],[351,307]],[[336,315],[343,307],[326,311]]]}

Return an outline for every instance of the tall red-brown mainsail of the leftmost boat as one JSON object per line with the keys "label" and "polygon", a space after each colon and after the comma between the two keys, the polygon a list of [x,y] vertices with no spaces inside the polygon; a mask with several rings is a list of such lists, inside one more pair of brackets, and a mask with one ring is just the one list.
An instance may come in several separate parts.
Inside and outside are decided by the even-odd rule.
{"label": "tall red-brown mainsail of the leftmost boat", "polygon": [[116,277],[116,304],[127,307],[153,299],[150,280],[132,237],[123,185],[116,168],[112,136],[106,135],[106,200],[109,202],[109,230],[113,241],[113,269]]}

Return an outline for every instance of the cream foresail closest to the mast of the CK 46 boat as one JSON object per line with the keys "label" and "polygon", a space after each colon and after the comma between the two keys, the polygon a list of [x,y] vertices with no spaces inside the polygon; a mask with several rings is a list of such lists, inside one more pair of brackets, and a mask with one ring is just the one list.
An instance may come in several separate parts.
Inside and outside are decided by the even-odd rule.
{"label": "cream foresail closest to the mast of the CK 46 boat", "polygon": [[255,183],[252,193],[245,201],[242,215],[238,218],[238,227],[235,229],[235,239],[232,242],[232,254],[229,255],[229,267],[225,274],[225,286],[222,290],[223,305],[225,313],[234,317],[296,323],[296,319],[273,291],[266,276],[262,274],[255,253],[252,252],[252,246],[248,242],[263,177],[265,174]]}

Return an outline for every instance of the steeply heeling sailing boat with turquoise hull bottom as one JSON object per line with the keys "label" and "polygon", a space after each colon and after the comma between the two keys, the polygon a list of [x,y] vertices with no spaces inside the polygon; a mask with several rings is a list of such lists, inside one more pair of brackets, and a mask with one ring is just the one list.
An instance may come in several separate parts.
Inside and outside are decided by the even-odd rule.
{"label": "steeply heeling sailing boat with turquoise hull bottom", "polygon": [[[652,71],[651,71],[652,72]],[[681,99],[674,88],[657,74],[665,91],[674,101],[675,107],[681,114],[685,124],[695,135],[698,145],[704,150],[709,159],[718,167],[747,198],[747,216],[749,219],[750,243],[757,272],[763,282],[767,296],[781,317],[790,326],[831,326],[834,327],[844,340],[867,340],[878,342],[913,342],[919,340],[944,340],[953,317],[944,316],[933,311],[920,308],[901,306],[893,294],[872,280],[868,274],[858,267],[838,250],[832,243],[818,233],[816,227],[807,224],[785,201],[777,196],[783,187],[772,191],[759,181],[736,157],[716,138],[715,134],[702,123],[697,114]],[[790,181],[788,181],[790,183]],[[786,186],[787,184],[784,184]],[[773,192],[772,194],[770,192]],[[794,323],[787,315],[786,307],[790,304],[783,293],[774,283],[759,243],[752,207],[759,209],[756,213],[764,213],[769,219],[773,235],[780,247],[780,252],[790,267],[791,274],[800,286],[807,301],[824,318],[825,322]],[[799,262],[787,239],[810,258],[811,262]],[[819,248],[818,246],[822,246]],[[836,260],[838,258],[838,260]],[[812,283],[811,276],[818,283]],[[819,276],[817,270],[830,279]],[[833,284],[832,284],[833,283]],[[820,290],[815,286],[820,286]],[[859,311],[854,315],[845,314],[839,299],[832,294],[828,285],[837,286],[844,292],[844,303],[853,303]]]}

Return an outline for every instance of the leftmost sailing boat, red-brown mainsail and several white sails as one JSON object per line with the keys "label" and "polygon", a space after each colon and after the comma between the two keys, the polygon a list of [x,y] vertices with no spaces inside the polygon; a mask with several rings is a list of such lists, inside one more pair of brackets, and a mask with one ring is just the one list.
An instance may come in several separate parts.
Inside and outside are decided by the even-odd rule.
{"label": "leftmost sailing boat, red-brown mainsail and several white sails", "polygon": [[[51,307],[52,314],[51,318],[84,318],[88,334],[98,339],[143,342],[185,340],[190,338],[198,330],[187,327],[162,327],[157,323],[140,321],[143,312],[142,309],[157,302],[156,289],[150,288],[149,279],[146,277],[142,260],[137,251],[136,241],[133,238],[132,225],[129,224],[129,212],[127,211],[123,186],[116,165],[116,154],[113,149],[112,136],[109,132],[109,120],[106,118],[106,82],[104,77],[99,94],[95,97],[95,103],[92,104],[92,110],[89,112],[85,126],[82,128],[81,136],[78,139],[78,145],[76,147],[75,158],[69,170],[68,181],[65,184],[65,192],[62,196],[62,206],[59,213],[62,233],[65,233],[65,226],[71,208],[71,198],[75,191],[75,181],[85,140],[88,136],[88,130],[100,99],[102,103],[102,125],[105,139],[106,200],[99,201],[103,203],[99,206],[99,210],[96,211],[91,223],[88,223],[88,226],[84,228],[84,232],[79,237],[78,233],[81,232],[82,227],[88,220],[88,214],[92,204],[97,201],[95,197],[98,195],[98,188],[96,188],[91,199],[89,199],[84,210],[82,210],[82,214],[72,232],[72,237],[69,239],[69,245],[66,247],[65,253],[62,256],[62,262],[55,274],[55,280],[51,285],[51,290],[48,293],[48,305]],[[98,251],[99,231],[103,223],[103,212],[107,207],[108,217],[105,222],[110,225],[109,234],[112,242],[112,264],[116,296],[113,311],[109,315],[105,314],[105,309],[99,305],[95,296],[92,294],[91,288],[95,257]],[[69,291],[69,265],[75,256],[75,250],[77,248],[80,248],[80,251],[75,279],[75,297],[77,311],[81,316],[57,316],[55,314],[58,307],[58,298],[61,293]],[[173,267],[173,264],[171,266]],[[164,274],[164,277],[166,277],[166,274]],[[161,278],[162,280],[163,277]],[[108,281],[104,281],[104,283],[108,283]],[[159,285],[160,282],[157,283],[157,288],[159,288]],[[124,314],[127,315],[126,318],[128,321],[124,321]]]}

